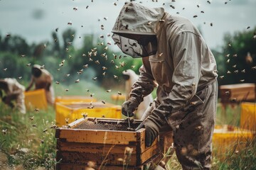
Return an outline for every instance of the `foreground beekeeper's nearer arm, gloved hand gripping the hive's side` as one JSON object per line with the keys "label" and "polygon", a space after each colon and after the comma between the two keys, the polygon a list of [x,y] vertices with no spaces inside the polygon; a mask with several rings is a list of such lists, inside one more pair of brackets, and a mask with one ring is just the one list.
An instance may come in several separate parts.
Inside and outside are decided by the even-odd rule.
{"label": "foreground beekeeper's nearer arm, gloved hand gripping the hive's side", "polygon": [[171,50],[174,57],[174,83],[171,92],[161,104],[151,112],[137,128],[146,128],[146,146],[151,146],[159,130],[166,123],[166,118],[176,111],[187,106],[190,99],[196,94],[198,80],[201,74],[201,57],[204,42],[201,37],[193,33],[185,32],[177,35],[171,41]]}

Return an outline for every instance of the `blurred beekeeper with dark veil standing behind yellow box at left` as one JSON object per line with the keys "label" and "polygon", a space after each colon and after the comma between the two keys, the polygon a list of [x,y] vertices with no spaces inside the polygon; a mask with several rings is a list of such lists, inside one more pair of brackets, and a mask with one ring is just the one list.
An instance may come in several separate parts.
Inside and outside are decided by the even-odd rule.
{"label": "blurred beekeeper with dark veil standing behind yellow box at left", "polygon": [[31,82],[26,88],[29,91],[33,84],[35,84],[35,89],[45,89],[46,99],[50,105],[54,104],[54,90],[52,86],[53,76],[46,69],[38,64],[34,64],[31,69]]}

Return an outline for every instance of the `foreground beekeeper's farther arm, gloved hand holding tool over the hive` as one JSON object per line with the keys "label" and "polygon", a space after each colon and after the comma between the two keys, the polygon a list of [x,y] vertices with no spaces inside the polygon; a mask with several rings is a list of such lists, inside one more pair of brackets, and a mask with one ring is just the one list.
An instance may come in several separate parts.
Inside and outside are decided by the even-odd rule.
{"label": "foreground beekeeper's farther arm, gloved hand holding tool over the hive", "polygon": [[143,65],[139,68],[139,79],[132,86],[130,98],[122,104],[122,114],[133,116],[133,112],[143,101],[144,96],[148,96],[154,90],[154,78],[151,74],[151,68],[148,57],[142,58]]}

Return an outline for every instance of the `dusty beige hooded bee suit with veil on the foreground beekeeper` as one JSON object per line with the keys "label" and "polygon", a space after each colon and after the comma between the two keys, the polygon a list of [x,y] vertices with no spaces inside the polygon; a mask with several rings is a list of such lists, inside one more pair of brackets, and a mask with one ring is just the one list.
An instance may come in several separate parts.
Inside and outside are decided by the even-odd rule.
{"label": "dusty beige hooded bee suit with veil on the foreground beekeeper", "polygon": [[169,125],[183,169],[210,169],[218,75],[213,54],[199,31],[186,18],[172,16],[164,8],[126,3],[112,33],[122,52],[143,60],[122,113],[131,116],[153,91],[155,80],[157,97],[137,128],[146,128],[146,146]]}

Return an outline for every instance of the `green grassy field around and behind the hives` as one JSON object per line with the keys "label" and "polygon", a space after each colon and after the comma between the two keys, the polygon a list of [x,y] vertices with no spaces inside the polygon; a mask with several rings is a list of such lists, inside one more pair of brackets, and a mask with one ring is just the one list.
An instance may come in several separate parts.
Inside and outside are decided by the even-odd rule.
{"label": "green grassy field around and behind the hives", "polygon": [[[65,91],[69,88],[70,90]],[[72,89],[75,89],[73,91]],[[89,92],[88,92],[89,89]],[[106,89],[89,84],[75,84],[73,86],[55,85],[56,96],[95,94],[94,97],[110,103],[121,104],[122,101],[112,101],[110,96],[122,92],[122,88]],[[48,107],[43,111],[28,111],[26,114],[18,113],[0,103],[0,169],[54,169],[55,166],[55,110]],[[223,108],[218,106],[218,125],[239,125],[240,105],[226,109],[226,118],[223,120]],[[237,151],[238,145],[244,149]],[[212,169],[256,169],[255,140],[247,142],[235,141],[228,152],[220,155],[213,153]],[[3,156],[4,155],[4,156]],[[175,154],[166,155],[171,159],[169,169],[181,169]]]}

